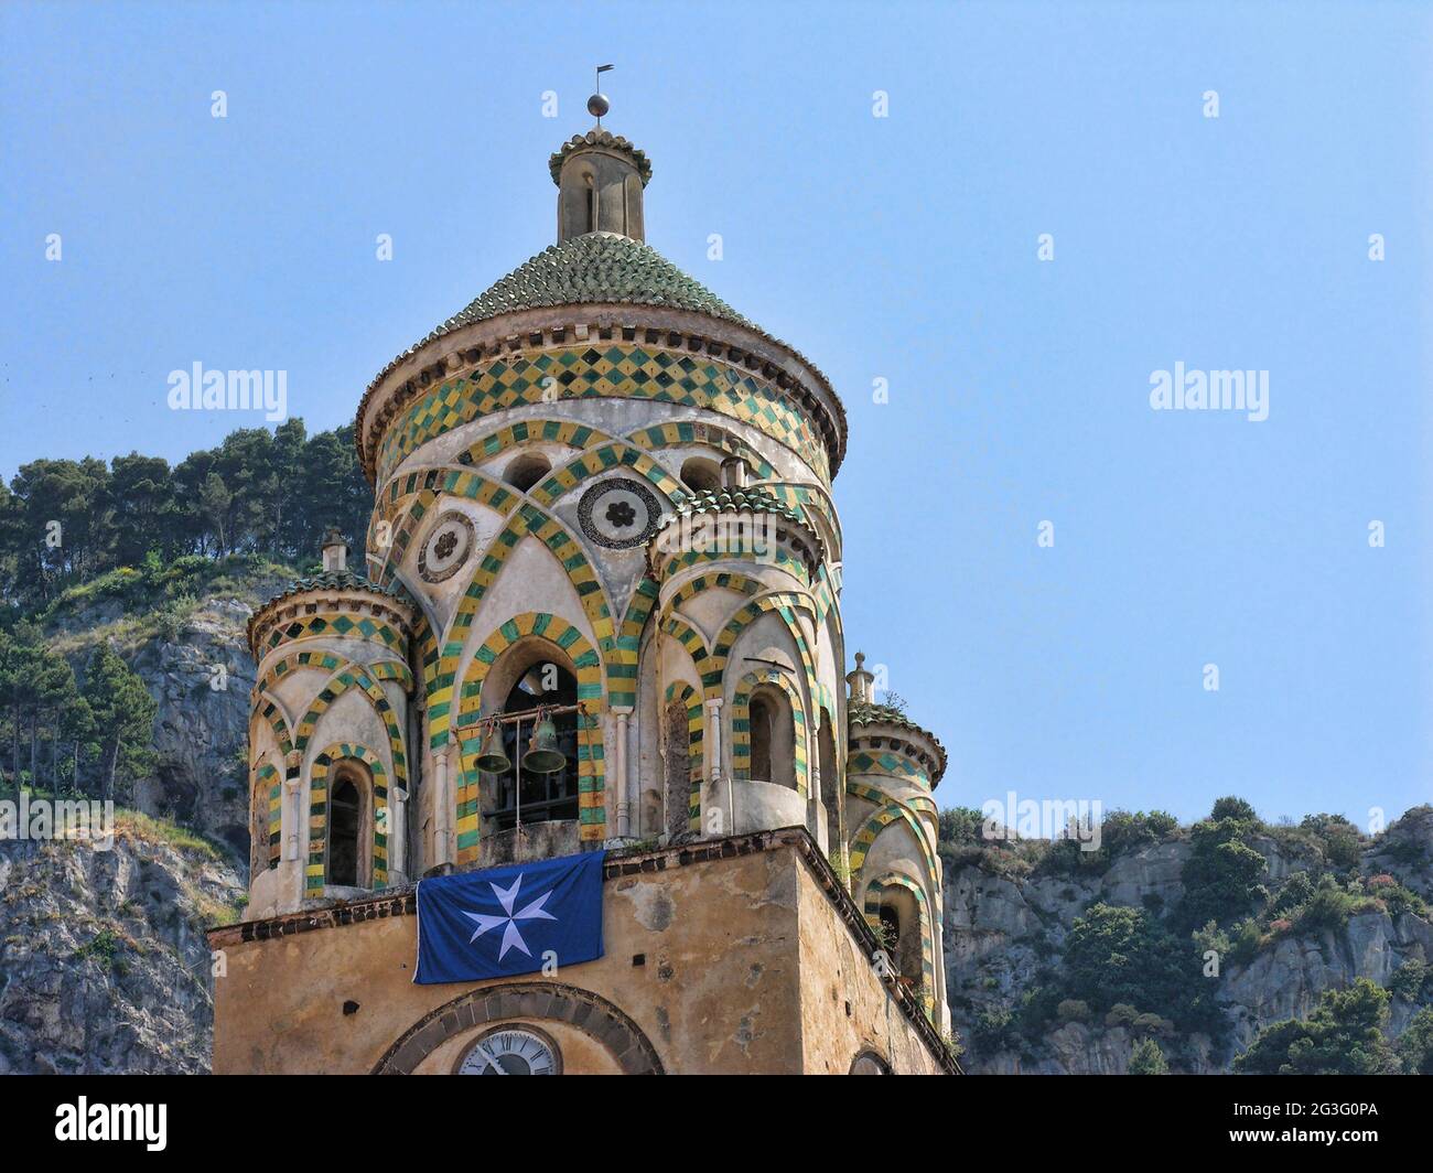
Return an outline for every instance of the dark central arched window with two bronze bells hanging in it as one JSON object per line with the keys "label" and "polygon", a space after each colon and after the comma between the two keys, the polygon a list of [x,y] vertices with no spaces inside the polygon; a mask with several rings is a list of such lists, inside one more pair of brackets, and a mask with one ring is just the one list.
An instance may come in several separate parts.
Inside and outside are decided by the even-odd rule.
{"label": "dark central arched window with two bronze bells hanging in it", "polygon": [[[527,823],[575,820],[577,813],[577,714],[559,713],[552,717],[557,728],[557,753],[563,756],[560,770],[539,774],[522,769],[522,759],[536,728],[536,710],[547,706],[577,703],[577,678],[560,664],[537,661],[524,671],[507,693],[503,714],[533,714],[527,720],[504,723],[503,751],[513,767],[504,774],[489,774],[493,804],[489,817],[497,830],[512,830],[519,819]],[[519,782],[520,779],[520,782]],[[519,799],[522,802],[519,802]]]}

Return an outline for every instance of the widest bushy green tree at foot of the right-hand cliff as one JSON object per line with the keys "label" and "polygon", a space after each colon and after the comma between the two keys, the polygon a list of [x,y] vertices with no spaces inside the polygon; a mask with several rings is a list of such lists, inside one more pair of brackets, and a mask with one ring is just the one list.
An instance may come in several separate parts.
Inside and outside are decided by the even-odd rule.
{"label": "widest bushy green tree at foot of the right-hand cliff", "polygon": [[1327,989],[1307,1020],[1264,1027],[1234,1060],[1240,1075],[1389,1075],[1399,1057],[1383,1037],[1389,991],[1367,978]]}

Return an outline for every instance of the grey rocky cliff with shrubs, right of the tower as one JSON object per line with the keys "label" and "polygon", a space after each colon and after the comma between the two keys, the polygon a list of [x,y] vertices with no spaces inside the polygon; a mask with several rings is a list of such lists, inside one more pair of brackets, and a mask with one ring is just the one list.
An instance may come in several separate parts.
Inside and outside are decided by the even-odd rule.
{"label": "grey rocky cliff with shrubs, right of the tower", "polygon": [[[1176,829],[1158,842],[1115,852],[1108,866],[1095,865],[1088,873],[1042,868],[1039,852],[1026,856],[1026,863],[1036,860],[1030,868],[1015,866],[1009,852],[949,855],[946,972],[953,1021],[969,1047],[966,1068],[1122,1074],[1136,1041],[1149,1035],[1175,1070],[1224,1073],[1261,1027],[1308,1017],[1323,991],[1357,978],[1407,991],[1391,1001],[1389,1034],[1401,1034],[1433,992],[1427,984],[1419,992],[1419,982],[1407,981],[1433,959],[1433,923],[1416,899],[1380,893],[1427,898],[1433,892],[1433,807],[1417,807],[1383,836],[1361,842],[1341,870],[1313,835],[1254,830],[1248,846],[1264,858],[1264,882],[1250,906],[1252,915],[1240,922],[1242,939],[1214,948],[1211,965],[1205,946],[1219,941],[1201,944],[1189,934],[1171,934],[1197,955],[1194,981],[1208,982],[1227,1030],[1222,1038],[1179,1030],[1164,1005],[1132,1007],[1136,1018],[1129,1008],[1102,1012],[1080,999],[1056,1001],[1070,992],[1062,972],[1066,946],[1089,909],[1139,909],[1156,925],[1182,908],[1197,852],[1187,832]],[[1341,903],[1331,903],[1347,915],[1320,918],[1305,905],[1301,916],[1294,898],[1304,895],[1305,880],[1294,885],[1297,893],[1290,889],[1298,873],[1320,878],[1326,891],[1337,888]],[[1307,888],[1318,891],[1313,883]],[[1260,901],[1267,909],[1262,921]]]}

